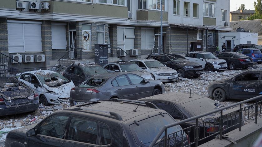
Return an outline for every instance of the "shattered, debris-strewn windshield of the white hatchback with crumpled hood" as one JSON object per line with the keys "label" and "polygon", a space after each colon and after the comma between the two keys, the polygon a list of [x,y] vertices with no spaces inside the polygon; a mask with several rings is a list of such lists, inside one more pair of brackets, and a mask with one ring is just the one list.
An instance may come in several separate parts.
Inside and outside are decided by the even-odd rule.
{"label": "shattered, debris-strewn windshield of the white hatchback with crumpled hood", "polygon": [[42,84],[47,86],[60,86],[62,84],[68,83],[69,81],[60,73],[43,73],[36,74]]}

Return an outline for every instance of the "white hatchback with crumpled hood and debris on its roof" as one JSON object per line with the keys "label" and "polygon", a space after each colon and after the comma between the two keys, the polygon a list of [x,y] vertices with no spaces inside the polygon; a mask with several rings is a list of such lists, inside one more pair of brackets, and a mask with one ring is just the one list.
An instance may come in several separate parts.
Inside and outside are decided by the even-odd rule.
{"label": "white hatchback with crumpled hood and debris on its roof", "polygon": [[23,72],[18,80],[34,89],[43,105],[60,105],[70,97],[70,90],[75,87],[63,75],[50,70]]}

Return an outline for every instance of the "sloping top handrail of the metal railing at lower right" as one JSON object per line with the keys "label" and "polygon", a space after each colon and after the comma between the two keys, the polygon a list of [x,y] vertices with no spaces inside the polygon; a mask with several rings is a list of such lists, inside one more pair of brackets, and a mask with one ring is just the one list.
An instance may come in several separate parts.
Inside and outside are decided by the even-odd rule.
{"label": "sloping top handrail of the metal railing at lower right", "polygon": [[[186,122],[189,122],[189,121],[192,121],[192,120],[196,120],[196,119],[199,119],[201,117],[204,117],[206,115],[210,115],[210,114],[213,114],[213,113],[216,113],[216,112],[221,112],[223,110],[226,110],[228,108],[231,108],[231,107],[234,107],[236,105],[242,105],[243,103],[246,103],[246,102],[249,102],[249,101],[253,101],[255,100],[256,101],[256,105],[257,105],[257,100],[259,98],[262,98],[262,95],[261,96],[256,96],[256,97],[253,97],[253,98],[250,98],[250,99],[247,99],[247,100],[243,100],[243,101],[240,101],[240,102],[237,102],[235,104],[232,104],[232,105],[228,105],[228,106],[225,106],[223,108],[219,108],[217,110],[213,110],[213,111],[210,111],[210,112],[207,112],[207,113],[204,113],[204,114],[201,114],[201,115],[197,115],[197,116],[193,116],[191,118],[188,118],[188,119],[185,119],[185,120],[180,120],[178,122],[175,122],[175,123],[172,123],[172,124],[168,124],[168,125],[165,125],[162,127],[162,129],[160,130],[160,132],[158,133],[158,135],[155,137],[155,139],[151,142],[151,144],[148,146],[148,147],[153,147],[155,145],[155,143],[157,142],[157,140],[159,139],[159,137],[165,132],[165,130],[167,128],[170,128],[170,127],[173,127],[173,126],[176,126],[176,125],[181,125],[183,123],[186,123]],[[241,109],[241,107],[240,107]],[[256,109],[257,110],[257,109]],[[257,112],[256,112],[257,114]],[[257,117],[255,118],[255,121],[257,121]],[[240,125],[241,127],[241,125]],[[166,146],[166,145],[164,145]]]}

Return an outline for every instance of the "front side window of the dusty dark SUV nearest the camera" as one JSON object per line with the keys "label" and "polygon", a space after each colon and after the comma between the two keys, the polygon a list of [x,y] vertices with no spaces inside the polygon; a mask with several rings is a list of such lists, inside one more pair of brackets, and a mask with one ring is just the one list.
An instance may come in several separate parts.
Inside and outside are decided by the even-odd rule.
{"label": "front side window of the dusty dark SUV nearest the camera", "polygon": [[37,134],[62,139],[68,118],[68,116],[61,115],[48,118],[37,128]]}

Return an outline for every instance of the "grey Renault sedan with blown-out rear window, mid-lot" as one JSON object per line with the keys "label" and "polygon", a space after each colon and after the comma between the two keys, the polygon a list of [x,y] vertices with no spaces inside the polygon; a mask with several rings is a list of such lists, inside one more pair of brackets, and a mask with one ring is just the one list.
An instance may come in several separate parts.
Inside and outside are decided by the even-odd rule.
{"label": "grey Renault sedan with blown-out rear window, mid-lot", "polygon": [[137,100],[165,92],[162,82],[129,72],[96,75],[71,89],[70,105],[113,98]]}

